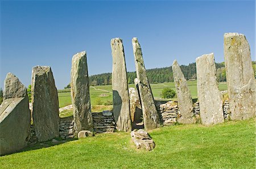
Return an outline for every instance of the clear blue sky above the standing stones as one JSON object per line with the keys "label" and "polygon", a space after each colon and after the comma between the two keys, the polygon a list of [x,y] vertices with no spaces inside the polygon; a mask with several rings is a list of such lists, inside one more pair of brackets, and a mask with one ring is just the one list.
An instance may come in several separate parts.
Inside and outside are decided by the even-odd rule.
{"label": "clear blue sky above the standing stones", "polygon": [[0,87],[9,72],[28,86],[32,67],[49,65],[64,88],[82,50],[89,75],[111,72],[114,37],[123,39],[127,71],[135,71],[133,37],[146,69],[211,52],[222,62],[225,32],[245,34],[255,60],[255,1],[1,1]]}

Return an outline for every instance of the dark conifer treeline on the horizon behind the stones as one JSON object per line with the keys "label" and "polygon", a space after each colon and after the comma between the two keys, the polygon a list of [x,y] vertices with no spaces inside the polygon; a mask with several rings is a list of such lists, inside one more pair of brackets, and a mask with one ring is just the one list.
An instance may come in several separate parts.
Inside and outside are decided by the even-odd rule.
{"label": "dark conifer treeline on the horizon behind the stones", "polygon": [[[189,65],[181,65],[181,71],[183,72],[185,78],[196,79],[196,63],[192,63]],[[218,81],[226,81],[226,71],[224,62],[216,63],[217,70],[217,80]],[[172,67],[163,67],[163,68],[155,68],[146,70],[148,81],[150,83],[163,83],[163,82],[173,82],[174,77],[172,75]],[[134,79],[136,78],[136,72],[128,72],[127,73],[127,81],[129,84],[134,83]],[[89,77],[90,86],[97,85],[108,85],[112,84],[111,73],[102,73],[97,75],[91,75]],[[65,87],[70,88],[70,84]]]}

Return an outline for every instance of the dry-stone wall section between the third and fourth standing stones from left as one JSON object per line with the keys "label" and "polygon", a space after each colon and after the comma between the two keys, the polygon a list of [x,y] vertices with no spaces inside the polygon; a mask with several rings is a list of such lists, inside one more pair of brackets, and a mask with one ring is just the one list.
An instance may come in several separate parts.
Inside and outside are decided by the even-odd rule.
{"label": "dry-stone wall section between the third and fourth standing stones from left", "polygon": [[95,133],[114,132],[115,121],[113,112],[103,111],[100,113],[92,113],[92,115]]}

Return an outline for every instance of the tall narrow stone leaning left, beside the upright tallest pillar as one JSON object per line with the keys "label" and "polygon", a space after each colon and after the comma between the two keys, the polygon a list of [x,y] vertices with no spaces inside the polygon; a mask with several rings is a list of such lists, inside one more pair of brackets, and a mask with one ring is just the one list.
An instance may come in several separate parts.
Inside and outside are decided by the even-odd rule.
{"label": "tall narrow stone leaning left, beside the upright tallest pillar", "polygon": [[141,98],[143,121],[146,129],[155,129],[160,126],[158,112],[156,111],[150,83],[148,82],[141,45],[137,37],[133,38],[133,53],[138,78],[139,95]]}

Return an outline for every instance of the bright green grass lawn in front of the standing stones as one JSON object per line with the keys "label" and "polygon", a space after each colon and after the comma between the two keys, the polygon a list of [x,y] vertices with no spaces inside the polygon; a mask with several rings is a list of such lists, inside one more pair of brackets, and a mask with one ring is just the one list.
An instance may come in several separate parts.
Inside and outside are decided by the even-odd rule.
{"label": "bright green grass lawn in front of the standing stones", "polygon": [[[137,150],[130,133],[96,137],[0,157],[1,168],[255,168],[254,119],[213,126],[151,130],[153,151]],[[32,149],[32,148],[30,148]],[[29,150],[29,149],[28,149]]]}

